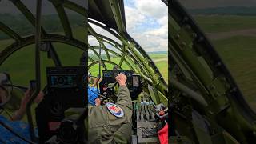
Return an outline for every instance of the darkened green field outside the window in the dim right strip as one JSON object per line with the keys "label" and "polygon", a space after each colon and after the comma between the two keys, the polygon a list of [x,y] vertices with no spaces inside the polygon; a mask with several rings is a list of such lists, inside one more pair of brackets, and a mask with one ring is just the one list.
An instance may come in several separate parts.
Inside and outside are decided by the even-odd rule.
{"label": "darkened green field outside the window in the dim right strip", "polygon": [[[194,18],[206,34],[219,36],[212,42],[246,101],[256,111],[256,16],[200,15]],[[227,37],[222,38],[223,34]]]}

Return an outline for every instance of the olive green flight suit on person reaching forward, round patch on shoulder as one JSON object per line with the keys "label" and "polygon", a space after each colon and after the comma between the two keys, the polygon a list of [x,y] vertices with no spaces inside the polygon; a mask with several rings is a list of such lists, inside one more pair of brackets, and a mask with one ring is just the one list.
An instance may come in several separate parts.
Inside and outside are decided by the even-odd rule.
{"label": "olive green flight suit on person reaching forward, round patch on shoulder", "polygon": [[88,110],[88,141],[95,144],[130,143],[132,130],[132,102],[126,86],[119,86],[118,100],[124,116],[118,118],[106,106],[92,106]]}

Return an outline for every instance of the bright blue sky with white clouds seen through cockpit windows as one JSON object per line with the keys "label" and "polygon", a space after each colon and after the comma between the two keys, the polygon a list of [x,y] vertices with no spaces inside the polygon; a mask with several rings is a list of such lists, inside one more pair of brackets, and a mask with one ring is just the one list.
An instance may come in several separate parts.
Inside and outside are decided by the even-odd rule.
{"label": "bright blue sky with white clouds seen through cockpit windows", "polygon": [[[126,29],[146,52],[168,50],[168,7],[161,0],[124,0]],[[105,30],[90,24],[98,34],[114,38]],[[97,45],[95,38],[88,38]]]}

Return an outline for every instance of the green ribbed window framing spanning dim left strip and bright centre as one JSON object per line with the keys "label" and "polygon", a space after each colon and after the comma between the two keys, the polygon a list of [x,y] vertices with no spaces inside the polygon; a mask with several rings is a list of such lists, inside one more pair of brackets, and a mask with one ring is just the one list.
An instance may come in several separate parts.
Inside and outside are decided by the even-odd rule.
{"label": "green ribbed window framing spanning dim left strip and bright centre", "polygon": [[[30,8],[20,0],[10,2],[12,2],[24,18],[34,26],[35,32],[31,35],[22,36],[4,22],[0,22],[0,30],[13,40],[9,46],[2,48],[0,52],[0,66],[8,61],[8,58],[10,58],[12,54],[18,53],[22,48],[30,45],[35,46],[34,74],[37,89],[26,107],[27,121],[30,125],[30,133],[33,141],[35,141],[33,128],[35,119],[33,118],[34,114],[32,114],[31,105],[34,98],[38,95],[40,87],[43,87],[41,81],[41,52],[46,52],[48,58],[54,62],[55,66],[62,66],[56,45],[53,45],[54,42],[74,46],[78,48],[78,50],[81,50],[83,54],[91,51],[96,57],[89,55],[88,59],[86,59],[85,62],[88,61],[88,66],[85,67],[88,68],[88,70],[90,70],[92,66],[97,66],[99,63],[99,67],[102,66],[104,70],[107,70],[106,65],[119,66],[121,68],[122,65],[128,66],[135,74],[141,76],[143,85],[145,85],[143,86],[143,94],[149,95],[150,100],[152,100],[155,105],[162,103],[164,106],[168,106],[168,86],[162,78],[162,74],[159,72],[150,56],[142,49],[142,46],[139,46],[138,42],[131,38],[126,31],[125,10],[122,0],[89,0],[85,2],[85,6],[78,5],[78,3],[69,0],[50,0],[49,2],[57,12],[60,24],[63,28],[62,33],[54,34],[47,33],[47,30],[42,26],[42,0],[37,1],[35,9],[36,14],[33,14]],[[167,4],[166,1],[164,2]],[[86,37],[84,42],[74,36],[66,10],[73,11],[73,13],[79,14],[85,19],[84,26],[86,27]],[[114,38],[98,34],[91,24],[101,27],[102,30],[112,34]],[[88,37],[96,38],[98,45],[91,46],[90,42],[88,42]],[[47,49],[42,49],[42,43],[47,43]],[[102,58],[101,51],[106,54],[106,58]],[[113,61],[111,56],[118,57],[119,61]],[[81,55],[78,57],[81,57]],[[84,62],[84,60],[82,61]],[[99,69],[99,71],[101,71],[101,68]],[[150,90],[148,90],[148,86],[151,87]],[[141,97],[141,95],[139,95],[139,97]],[[138,98],[137,101],[139,100],[142,99]]]}

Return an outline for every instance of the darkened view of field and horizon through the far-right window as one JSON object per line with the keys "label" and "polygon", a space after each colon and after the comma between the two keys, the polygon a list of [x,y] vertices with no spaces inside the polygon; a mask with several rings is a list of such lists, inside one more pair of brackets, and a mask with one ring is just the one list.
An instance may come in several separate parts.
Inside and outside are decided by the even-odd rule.
{"label": "darkened view of field and horizon through the far-right window", "polygon": [[256,111],[256,2],[180,0]]}

